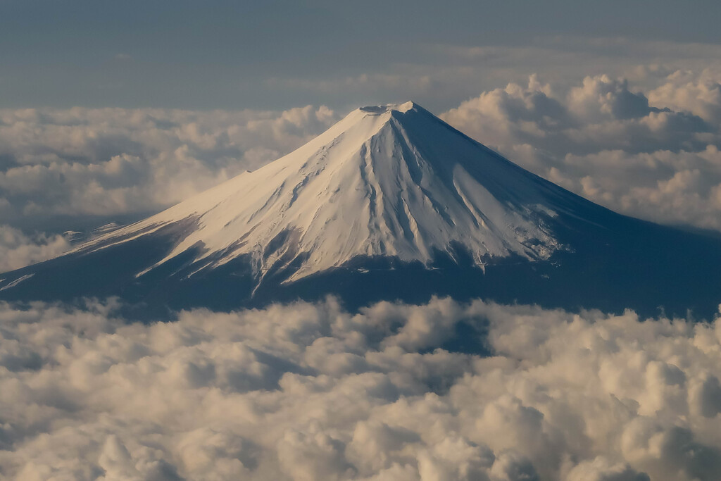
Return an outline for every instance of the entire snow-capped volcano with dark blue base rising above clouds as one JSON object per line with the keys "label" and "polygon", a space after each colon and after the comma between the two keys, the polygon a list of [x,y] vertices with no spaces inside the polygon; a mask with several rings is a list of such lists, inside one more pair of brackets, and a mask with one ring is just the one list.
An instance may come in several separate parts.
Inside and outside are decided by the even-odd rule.
{"label": "entire snow-capped volcano with dark blue base rising above clouds", "polygon": [[721,239],[609,211],[407,102],[0,278],[4,300],[119,296],[152,315],[332,294],[709,317]]}

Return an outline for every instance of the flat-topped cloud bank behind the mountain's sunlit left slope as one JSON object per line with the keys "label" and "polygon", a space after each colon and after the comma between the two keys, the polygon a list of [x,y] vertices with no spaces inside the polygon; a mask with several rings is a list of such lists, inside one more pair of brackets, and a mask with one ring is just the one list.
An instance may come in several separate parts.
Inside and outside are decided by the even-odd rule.
{"label": "flat-topped cloud bank behind the mountain's sunlit left slope", "polygon": [[283,112],[0,110],[0,219],[159,211],[286,154],[337,120]]}

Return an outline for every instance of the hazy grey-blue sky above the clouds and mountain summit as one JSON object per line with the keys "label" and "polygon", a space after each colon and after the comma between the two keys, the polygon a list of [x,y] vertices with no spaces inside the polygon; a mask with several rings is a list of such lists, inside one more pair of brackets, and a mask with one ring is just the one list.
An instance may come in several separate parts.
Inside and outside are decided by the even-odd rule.
{"label": "hazy grey-blue sky above the clouds and mountain summit", "polygon": [[[412,97],[445,110],[532,73],[609,73],[585,69],[590,58],[600,70],[634,56],[668,60],[658,42],[721,44],[719,18],[710,0],[0,0],[0,106],[345,107]],[[490,47],[501,49],[478,50]],[[528,48],[544,50],[523,56]]]}

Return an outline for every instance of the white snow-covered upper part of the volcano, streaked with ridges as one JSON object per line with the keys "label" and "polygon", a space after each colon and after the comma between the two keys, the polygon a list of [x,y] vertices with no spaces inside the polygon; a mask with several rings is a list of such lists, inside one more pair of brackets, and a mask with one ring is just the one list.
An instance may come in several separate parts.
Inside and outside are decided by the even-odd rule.
{"label": "white snow-covered upper part of the volcano, streaked with ridges", "polygon": [[259,280],[293,263],[287,281],[296,281],[357,256],[428,263],[457,245],[482,267],[563,248],[544,227],[560,193],[413,102],[362,107],[291,154],[79,250],[190,219],[193,229],[138,276],[191,248],[207,260],[199,270],[249,254]]}

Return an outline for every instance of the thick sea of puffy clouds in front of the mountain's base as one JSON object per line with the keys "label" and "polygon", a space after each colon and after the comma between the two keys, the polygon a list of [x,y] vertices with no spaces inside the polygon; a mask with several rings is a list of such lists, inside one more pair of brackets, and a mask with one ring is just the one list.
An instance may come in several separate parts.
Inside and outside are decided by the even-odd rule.
{"label": "thick sea of puffy clouds in front of the mountain's base", "polygon": [[[449,299],[196,309],[150,325],[117,312],[0,305],[4,477],[690,481],[721,469],[721,318]],[[438,347],[461,324],[490,354]]]}

